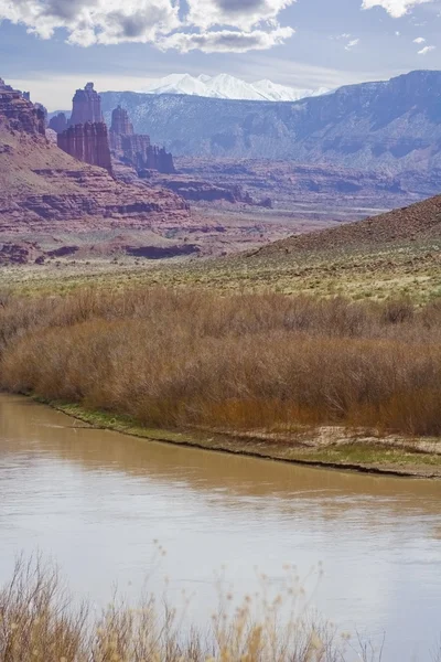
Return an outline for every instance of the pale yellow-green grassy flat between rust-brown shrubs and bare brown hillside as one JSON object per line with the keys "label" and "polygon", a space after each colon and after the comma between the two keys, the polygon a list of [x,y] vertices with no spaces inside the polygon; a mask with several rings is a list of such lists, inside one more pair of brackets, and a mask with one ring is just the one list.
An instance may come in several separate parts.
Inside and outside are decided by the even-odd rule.
{"label": "pale yellow-green grassy flat between rust-brown shrubs and bare brown hillside", "polygon": [[[79,239],[78,239],[79,241]],[[75,242],[74,242],[75,243]],[[127,287],[196,287],[217,292],[271,291],[314,297],[343,296],[352,300],[385,300],[409,297],[427,303],[441,293],[441,242],[381,243],[370,247],[332,245],[323,252],[235,255],[219,259],[185,261],[72,260],[62,258],[44,266],[11,266],[0,269],[0,289],[17,292],[67,293],[90,285],[101,289]]]}

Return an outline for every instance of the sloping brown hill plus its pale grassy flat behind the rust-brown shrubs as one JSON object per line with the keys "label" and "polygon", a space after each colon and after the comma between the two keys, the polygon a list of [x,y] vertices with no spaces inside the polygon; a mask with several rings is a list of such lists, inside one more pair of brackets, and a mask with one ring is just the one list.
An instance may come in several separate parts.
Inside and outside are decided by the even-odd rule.
{"label": "sloping brown hill plus its pale grassy flat behind the rust-brown shrubs", "polygon": [[94,281],[103,288],[196,287],[216,291],[277,291],[352,300],[441,295],[441,196],[362,222],[292,236],[219,259],[152,265],[127,257],[118,265],[72,257],[37,268],[0,273],[0,287],[69,291]]}

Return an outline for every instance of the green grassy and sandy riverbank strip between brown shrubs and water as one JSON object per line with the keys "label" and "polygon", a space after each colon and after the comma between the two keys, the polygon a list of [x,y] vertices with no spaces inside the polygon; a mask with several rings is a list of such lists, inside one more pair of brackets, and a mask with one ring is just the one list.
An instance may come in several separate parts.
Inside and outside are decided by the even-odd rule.
{"label": "green grassy and sandy riverbank strip between brown shrubs and water", "polygon": [[304,428],[297,434],[278,435],[262,430],[240,434],[208,429],[152,429],[137,425],[129,417],[88,410],[76,404],[34,399],[92,428],[114,430],[147,441],[340,471],[441,479],[441,444],[438,439],[375,438],[363,430],[351,434],[335,427],[320,430]]}

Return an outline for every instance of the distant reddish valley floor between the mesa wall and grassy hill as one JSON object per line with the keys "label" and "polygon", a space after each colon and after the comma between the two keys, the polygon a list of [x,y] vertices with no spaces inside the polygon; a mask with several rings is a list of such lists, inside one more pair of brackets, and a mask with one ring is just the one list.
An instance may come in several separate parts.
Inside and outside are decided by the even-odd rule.
{"label": "distant reddish valley floor between the mesa wall and grassy hill", "polygon": [[[173,175],[117,170],[139,199],[170,189],[189,212],[75,216],[68,220],[35,212],[32,218],[0,213],[0,264],[34,266],[35,277],[47,271],[87,274],[149,266],[157,260],[198,260],[257,249],[291,235],[358,221],[421,199],[385,174],[342,168],[306,167],[262,160],[176,160]],[[158,191],[158,193],[157,193]],[[64,205],[65,207],[66,205]],[[39,215],[40,214],[40,215]]]}

